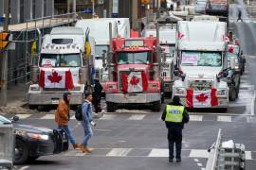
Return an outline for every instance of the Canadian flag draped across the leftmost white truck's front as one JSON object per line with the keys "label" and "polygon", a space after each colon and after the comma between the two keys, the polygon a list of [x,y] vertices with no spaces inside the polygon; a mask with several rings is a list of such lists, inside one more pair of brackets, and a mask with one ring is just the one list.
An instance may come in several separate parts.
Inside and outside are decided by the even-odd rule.
{"label": "Canadian flag draped across the leftmost white truck's front", "polygon": [[39,86],[42,88],[65,88],[73,89],[73,78],[70,70],[41,70]]}

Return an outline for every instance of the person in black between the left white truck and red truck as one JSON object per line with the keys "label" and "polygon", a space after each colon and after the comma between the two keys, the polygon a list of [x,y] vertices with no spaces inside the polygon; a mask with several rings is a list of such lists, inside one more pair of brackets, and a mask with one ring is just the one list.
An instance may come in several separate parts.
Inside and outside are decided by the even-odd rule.
{"label": "person in black between the left white truck and red truck", "polygon": [[99,79],[95,78],[94,79],[94,92],[92,93],[93,99],[92,103],[94,106],[94,110],[96,113],[101,112],[101,92],[102,92],[102,86],[99,81]]}

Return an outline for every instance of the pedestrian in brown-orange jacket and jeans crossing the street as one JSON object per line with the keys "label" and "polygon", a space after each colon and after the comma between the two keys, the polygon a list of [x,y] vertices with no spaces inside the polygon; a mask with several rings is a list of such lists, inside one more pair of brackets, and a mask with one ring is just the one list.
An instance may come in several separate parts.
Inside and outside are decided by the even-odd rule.
{"label": "pedestrian in brown-orange jacket and jeans crossing the street", "polygon": [[60,101],[59,106],[55,112],[55,122],[58,124],[58,128],[63,129],[66,133],[69,142],[73,145],[74,149],[78,148],[81,144],[76,143],[76,139],[73,137],[68,122],[70,120],[70,106],[71,93],[64,93],[64,98]]}

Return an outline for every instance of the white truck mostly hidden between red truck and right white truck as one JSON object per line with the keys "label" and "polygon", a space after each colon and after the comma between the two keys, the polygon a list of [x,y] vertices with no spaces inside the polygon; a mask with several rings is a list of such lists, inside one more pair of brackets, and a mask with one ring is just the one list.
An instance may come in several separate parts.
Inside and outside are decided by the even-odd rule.
{"label": "white truck mostly hidden between red truck and right white truck", "polygon": [[[163,79],[163,91],[165,95],[173,92],[174,85],[174,54],[176,42],[176,26],[165,25],[159,27],[159,42],[163,50],[161,58],[161,78]],[[156,37],[155,29],[145,29],[143,37]]]}

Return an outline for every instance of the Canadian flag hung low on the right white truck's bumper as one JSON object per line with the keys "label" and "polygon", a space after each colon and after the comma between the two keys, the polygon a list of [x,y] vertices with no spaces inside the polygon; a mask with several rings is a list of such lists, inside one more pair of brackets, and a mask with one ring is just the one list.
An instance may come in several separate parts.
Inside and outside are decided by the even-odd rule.
{"label": "Canadian flag hung low on the right white truck's bumper", "polygon": [[208,108],[218,105],[216,89],[209,91],[193,91],[187,90],[186,101],[189,108]]}

